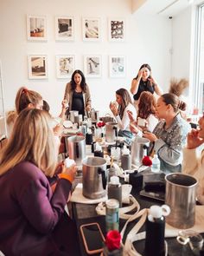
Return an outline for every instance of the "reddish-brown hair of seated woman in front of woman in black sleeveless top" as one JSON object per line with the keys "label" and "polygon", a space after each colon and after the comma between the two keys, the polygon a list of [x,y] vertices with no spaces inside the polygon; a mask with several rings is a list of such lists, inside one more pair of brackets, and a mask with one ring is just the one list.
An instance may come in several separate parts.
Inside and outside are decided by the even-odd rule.
{"label": "reddish-brown hair of seated woman in front of woman in black sleeveless top", "polygon": [[149,115],[156,113],[156,98],[148,91],[143,91],[139,97],[137,117],[147,119]]}

